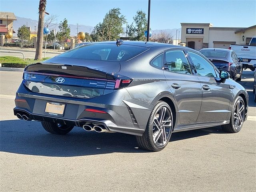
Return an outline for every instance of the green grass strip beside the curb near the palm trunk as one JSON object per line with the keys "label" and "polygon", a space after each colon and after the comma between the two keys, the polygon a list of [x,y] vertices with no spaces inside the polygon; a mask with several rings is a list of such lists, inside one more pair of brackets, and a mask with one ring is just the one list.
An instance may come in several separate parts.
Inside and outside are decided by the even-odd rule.
{"label": "green grass strip beside the curb near the palm trunk", "polygon": [[24,68],[29,64],[42,62],[49,58],[43,58],[42,60],[34,60],[34,59],[25,59],[13,56],[2,56],[0,57],[0,63],[2,63],[2,67],[10,67],[10,68]]}

